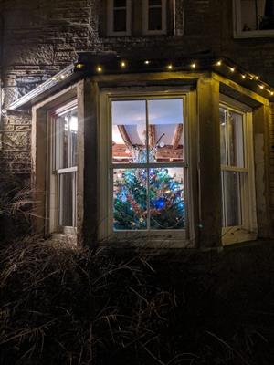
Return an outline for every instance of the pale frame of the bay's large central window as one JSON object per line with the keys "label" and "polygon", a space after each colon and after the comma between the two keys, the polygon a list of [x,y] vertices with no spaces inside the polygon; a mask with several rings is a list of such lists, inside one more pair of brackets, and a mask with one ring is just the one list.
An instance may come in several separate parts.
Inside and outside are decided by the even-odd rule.
{"label": "pale frame of the bay's large central window", "polygon": [[[163,89],[165,89],[163,91]],[[182,230],[138,230],[114,231],[113,230],[113,177],[112,177],[112,151],[111,151],[111,100],[112,99],[183,99],[184,102],[184,156],[185,161],[180,162],[184,169],[184,203],[185,203],[185,229]],[[100,93],[100,242],[111,242],[145,247],[193,247],[195,245],[194,229],[194,183],[192,183],[192,169],[190,143],[195,123],[195,91],[177,91],[159,88],[147,92],[130,89],[128,92],[105,90]],[[164,163],[163,163],[164,164]],[[156,162],[154,165],[161,167],[163,164]],[[177,163],[178,164],[178,163]],[[151,163],[149,164],[152,165]],[[175,165],[175,163],[174,163]],[[172,167],[172,164],[170,164]],[[117,165],[117,168],[121,167]],[[123,164],[123,167],[126,167]],[[133,168],[134,165],[131,164]],[[143,167],[148,167],[143,164]],[[116,168],[116,164],[115,164]]]}

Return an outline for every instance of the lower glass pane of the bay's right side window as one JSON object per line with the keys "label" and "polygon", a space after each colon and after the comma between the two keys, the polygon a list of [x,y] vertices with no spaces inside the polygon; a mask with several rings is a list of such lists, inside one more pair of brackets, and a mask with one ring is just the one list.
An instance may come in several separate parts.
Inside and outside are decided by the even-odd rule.
{"label": "lower glass pane of the bay's right side window", "polygon": [[223,224],[241,225],[241,198],[239,172],[223,172]]}

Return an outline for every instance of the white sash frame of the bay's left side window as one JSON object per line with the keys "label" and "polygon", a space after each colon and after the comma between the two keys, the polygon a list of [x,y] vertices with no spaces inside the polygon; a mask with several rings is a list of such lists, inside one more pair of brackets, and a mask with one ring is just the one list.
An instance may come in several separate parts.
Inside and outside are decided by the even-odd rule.
{"label": "white sash frame of the bay's left side window", "polygon": [[[47,211],[47,233],[57,234],[76,234],[77,233],[77,172],[78,167],[68,167],[64,169],[56,168],[56,119],[58,116],[67,113],[68,111],[77,109],[77,100],[72,100],[65,105],[49,110],[47,112],[47,197],[46,197],[46,211]],[[75,183],[73,184],[75,193],[73,212],[74,226],[60,226],[58,225],[58,206],[59,206],[59,187],[58,180],[61,174],[74,173]]]}

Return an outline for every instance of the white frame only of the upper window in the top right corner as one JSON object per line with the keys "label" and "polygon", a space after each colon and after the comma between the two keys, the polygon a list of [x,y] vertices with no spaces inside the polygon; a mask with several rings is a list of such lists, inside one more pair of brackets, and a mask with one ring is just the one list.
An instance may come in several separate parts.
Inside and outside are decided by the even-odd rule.
{"label": "white frame only of the upper window in the top right corner", "polygon": [[235,38],[259,38],[274,36],[274,29],[242,30],[241,0],[233,0],[233,23]]}

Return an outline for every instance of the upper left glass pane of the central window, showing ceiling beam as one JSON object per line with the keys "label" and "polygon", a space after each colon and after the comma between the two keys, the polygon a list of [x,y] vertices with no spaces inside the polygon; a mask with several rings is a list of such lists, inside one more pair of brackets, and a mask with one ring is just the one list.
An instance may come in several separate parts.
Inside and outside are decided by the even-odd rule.
{"label": "upper left glass pane of the central window, showing ceiling beam", "polygon": [[145,100],[112,101],[112,162],[147,162]]}

